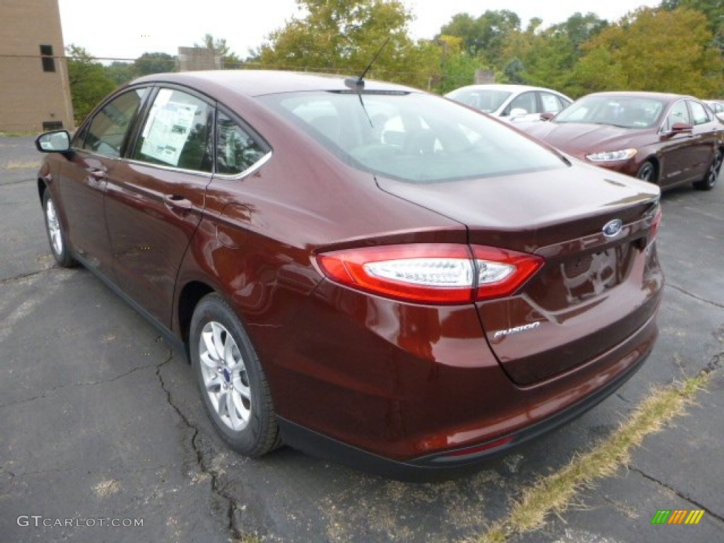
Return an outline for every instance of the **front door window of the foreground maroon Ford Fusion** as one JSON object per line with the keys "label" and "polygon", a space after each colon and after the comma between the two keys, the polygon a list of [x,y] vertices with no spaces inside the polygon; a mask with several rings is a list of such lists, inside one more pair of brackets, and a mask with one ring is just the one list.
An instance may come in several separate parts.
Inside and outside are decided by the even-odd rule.
{"label": "front door window of the foreground maroon Ford Fusion", "polygon": [[88,131],[84,130],[83,148],[109,158],[121,156],[126,133],[146,91],[146,88],[130,90],[103,106],[93,117]]}

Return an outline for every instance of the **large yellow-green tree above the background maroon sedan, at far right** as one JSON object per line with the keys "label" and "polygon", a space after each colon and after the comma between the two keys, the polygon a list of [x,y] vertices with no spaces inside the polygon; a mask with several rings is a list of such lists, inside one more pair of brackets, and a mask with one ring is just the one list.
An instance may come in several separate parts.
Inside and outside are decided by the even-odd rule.
{"label": "large yellow-green tree above the background maroon sedan, at far right", "polygon": [[[574,72],[584,88],[658,90],[715,96],[724,88],[722,56],[712,44],[707,18],[691,9],[642,8],[610,26],[584,46]],[[606,51],[607,56],[600,51]],[[616,73],[606,83],[592,67]]]}

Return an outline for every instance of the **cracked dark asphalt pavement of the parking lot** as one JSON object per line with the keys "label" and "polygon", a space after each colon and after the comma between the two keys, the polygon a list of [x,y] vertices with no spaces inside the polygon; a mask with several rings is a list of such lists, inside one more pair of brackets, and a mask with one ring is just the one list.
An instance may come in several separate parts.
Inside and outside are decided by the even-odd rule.
{"label": "cracked dark asphalt pavement of the parking lot", "polygon": [[[1,541],[457,541],[607,437],[652,386],[702,369],[715,370],[709,390],[685,417],[573,510],[511,541],[724,540],[724,182],[662,198],[661,334],[631,381],[465,479],[405,484],[288,447],[260,460],[229,450],[182,354],[88,271],[54,266],[33,161],[32,138],[0,138]],[[652,526],[659,509],[706,513],[696,526]]]}

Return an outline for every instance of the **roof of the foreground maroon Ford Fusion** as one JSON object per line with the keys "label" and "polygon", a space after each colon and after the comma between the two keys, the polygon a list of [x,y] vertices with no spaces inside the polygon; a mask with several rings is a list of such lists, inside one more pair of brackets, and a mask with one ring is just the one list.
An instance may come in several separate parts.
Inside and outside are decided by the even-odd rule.
{"label": "roof of the foreground maroon Ford Fusion", "polygon": [[[356,77],[353,79],[356,80]],[[177,83],[209,92],[231,90],[245,96],[304,90],[350,90],[345,85],[345,76],[342,75],[277,70],[213,70],[153,74],[132,82],[135,83]],[[365,80],[365,90],[421,92],[418,89],[376,80]]]}

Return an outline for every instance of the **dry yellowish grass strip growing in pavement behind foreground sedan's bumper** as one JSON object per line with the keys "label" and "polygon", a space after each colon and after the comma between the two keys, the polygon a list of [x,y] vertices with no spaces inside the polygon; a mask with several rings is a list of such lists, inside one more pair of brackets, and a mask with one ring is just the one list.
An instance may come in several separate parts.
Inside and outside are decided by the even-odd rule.
{"label": "dry yellowish grass strip growing in pavement behind foreground sedan's bumper", "polygon": [[683,414],[709,377],[709,373],[702,372],[678,384],[652,390],[610,437],[589,452],[576,455],[568,466],[538,479],[523,492],[507,518],[472,541],[505,543],[508,536],[539,528],[550,513],[562,513],[579,489],[615,473],[628,463],[631,450],[641,445],[645,437]]}

